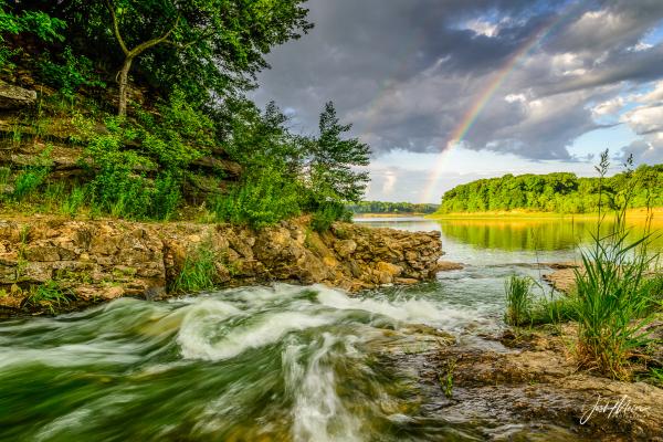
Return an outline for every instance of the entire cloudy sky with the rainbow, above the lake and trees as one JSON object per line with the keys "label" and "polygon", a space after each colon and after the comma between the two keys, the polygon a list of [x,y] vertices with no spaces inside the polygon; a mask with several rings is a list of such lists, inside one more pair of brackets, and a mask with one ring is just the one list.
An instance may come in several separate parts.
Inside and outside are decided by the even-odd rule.
{"label": "entire cloudy sky with the rainbow, above the lake and trees", "polygon": [[663,162],[663,0],[309,0],[260,75],[292,127],[334,101],[373,157],[366,198],[438,202],[507,172]]}

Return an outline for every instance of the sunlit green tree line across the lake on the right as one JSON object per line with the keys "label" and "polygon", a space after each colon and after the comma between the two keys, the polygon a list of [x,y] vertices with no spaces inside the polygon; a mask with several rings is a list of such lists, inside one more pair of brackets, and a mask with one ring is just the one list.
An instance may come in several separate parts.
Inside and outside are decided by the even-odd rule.
{"label": "sunlit green tree line across the lake on the right", "polygon": [[[439,213],[532,210],[591,213],[614,208],[630,194],[630,208],[663,206],[663,165],[640,166],[610,178],[575,173],[505,175],[457,186],[444,193]],[[600,196],[602,196],[600,198]],[[600,201],[599,201],[600,199]]]}

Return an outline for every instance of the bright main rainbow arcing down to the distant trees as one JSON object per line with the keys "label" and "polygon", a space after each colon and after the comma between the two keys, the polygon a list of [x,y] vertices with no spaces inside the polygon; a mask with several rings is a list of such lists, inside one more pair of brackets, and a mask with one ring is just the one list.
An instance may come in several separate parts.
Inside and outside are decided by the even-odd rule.
{"label": "bright main rainbow arcing down to the distant trees", "polygon": [[443,147],[440,158],[438,159],[429,181],[423,189],[422,201],[431,201],[432,193],[436,188],[440,176],[442,175],[442,166],[444,165],[449,152],[453,148],[460,146],[460,144],[463,141],[463,138],[465,138],[470,129],[472,129],[472,126],[474,126],[476,123],[476,119],[483,109],[486,107],[499,87],[504,84],[504,82],[508,78],[508,76],[516,70],[519,62],[523,61],[546,36],[548,36],[565,17],[568,17],[568,13],[559,14],[549,20],[544,27],[541,27],[541,29],[539,29],[538,32],[534,33],[534,35],[527,40],[514,55],[511,56],[504,66],[502,66],[502,69],[495,74],[493,80],[478,94],[476,101],[470,107],[470,109],[467,109],[465,115],[463,115],[461,123],[451,133],[449,141],[446,141],[446,145]]}

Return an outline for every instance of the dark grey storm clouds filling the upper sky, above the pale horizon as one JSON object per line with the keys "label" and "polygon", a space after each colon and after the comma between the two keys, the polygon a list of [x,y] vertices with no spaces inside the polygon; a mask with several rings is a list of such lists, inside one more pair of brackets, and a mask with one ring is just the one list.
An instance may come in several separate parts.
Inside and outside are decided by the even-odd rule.
{"label": "dark grey storm clouds filling the upper sky, above the pale horizon", "polygon": [[663,76],[663,48],[634,50],[663,1],[312,0],[316,28],[270,55],[259,103],[275,99],[313,133],[324,102],[379,155],[443,149],[502,67],[549,23],[506,76],[464,143],[535,159],[598,127],[588,103],[621,82]]}

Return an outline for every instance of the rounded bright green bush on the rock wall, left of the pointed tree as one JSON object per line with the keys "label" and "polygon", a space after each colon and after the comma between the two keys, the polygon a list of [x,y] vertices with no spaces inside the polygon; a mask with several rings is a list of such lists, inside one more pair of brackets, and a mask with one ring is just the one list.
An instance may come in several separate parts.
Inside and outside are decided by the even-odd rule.
{"label": "rounded bright green bush on the rock wall, left of the pointed tree", "polygon": [[273,225],[301,213],[301,187],[274,168],[244,178],[227,196],[212,201],[219,221],[248,224],[254,229]]}

